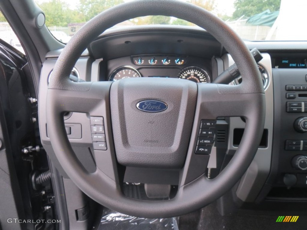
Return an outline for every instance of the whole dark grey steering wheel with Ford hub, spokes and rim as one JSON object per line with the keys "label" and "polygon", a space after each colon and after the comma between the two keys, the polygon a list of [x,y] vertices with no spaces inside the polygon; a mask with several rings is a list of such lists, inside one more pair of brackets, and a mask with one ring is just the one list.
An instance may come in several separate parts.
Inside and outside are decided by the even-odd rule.
{"label": "whole dark grey steering wheel with Ford hub, spokes and rim", "polygon": [[[147,15],[177,17],[206,29],[231,54],[243,82],[231,86],[162,78],[78,83],[69,80],[77,59],[99,34],[119,22]],[[145,100],[163,102],[167,109],[158,113],[144,112],[137,108],[137,104]],[[255,156],[265,119],[261,76],[244,42],[212,13],[174,0],[126,2],[87,22],[56,61],[46,103],[52,148],[71,180],[85,194],[108,208],[148,218],[192,212],[231,189]],[[158,107],[155,109],[159,110]],[[94,151],[95,172],[86,171],[72,150],[63,121],[67,111],[103,117],[107,150]],[[217,117],[245,118],[246,127],[239,148],[216,178],[208,179],[202,172],[191,180],[196,165],[205,162],[209,156],[195,154],[200,122]],[[149,126],[151,120],[154,126]],[[121,188],[125,166],[178,169],[177,194],[168,200],[126,197]]]}

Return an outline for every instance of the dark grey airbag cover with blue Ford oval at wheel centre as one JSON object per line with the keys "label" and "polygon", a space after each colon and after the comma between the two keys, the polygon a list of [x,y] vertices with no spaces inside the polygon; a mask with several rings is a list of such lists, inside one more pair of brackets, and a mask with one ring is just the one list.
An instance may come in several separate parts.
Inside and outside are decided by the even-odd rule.
{"label": "dark grey airbag cover with blue Ford oval at wheel centre", "polygon": [[114,82],[110,104],[118,162],[133,167],[181,168],[196,96],[197,84],[182,79],[130,78]]}

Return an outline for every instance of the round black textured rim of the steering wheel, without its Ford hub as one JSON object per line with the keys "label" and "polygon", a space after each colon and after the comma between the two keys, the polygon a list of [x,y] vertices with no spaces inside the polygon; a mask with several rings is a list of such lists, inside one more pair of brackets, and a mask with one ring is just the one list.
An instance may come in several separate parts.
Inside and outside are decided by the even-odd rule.
{"label": "round black textured rim of the steering wheel, without its Ford hub", "polygon": [[[209,119],[223,114],[219,113],[221,109],[219,105],[227,107],[228,104],[238,108],[237,111],[235,109],[229,111],[229,116],[246,118],[245,132],[235,156],[215,179],[208,180],[200,176],[188,184],[180,184],[176,197],[166,201],[130,199],[122,194],[120,187],[117,186],[119,182],[117,179],[110,178],[99,168],[94,173],[86,172],[76,159],[69,144],[62,117],[64,111],[97,113],[95,104],[100,102],[99,95],[103,94],[101,90],[105,89],[108,92],[111,87],[111,82],[105,84],[73,83],[69,80],[74,64],[87,45],[111,26],[133,17],[146,15],[173,16],[203,27],[231,54],[243,76],[243,82],[238,86],[198,85],[198,99],[204,100],[199,107],[207,112]],[[214,94],[212,98],[208,97],[210,92]],[[75,96],[83,101],[74,101]],[[106,105],[109,96],[103,96],[105,101],[102,104],[110,111],[109,106]],[[241,105],[238,105],[239,103]],[[244,108],[239,111],[241,107]],[[52,80],[47,92],[46,110],[48,133],[56,157],[68,176],[85,194],[116,211],[133,216],[156,218],[179,216],[208,205],[222,196],[242,177],[254,158],[262,136],[265,98],[258,67],[251,53],[239,36],[218,17],[185,2],[141,0],[127,2],[100,13],[72,37],[60,54],[52,72]],[[188,157],[185,164],[188,164]]]}

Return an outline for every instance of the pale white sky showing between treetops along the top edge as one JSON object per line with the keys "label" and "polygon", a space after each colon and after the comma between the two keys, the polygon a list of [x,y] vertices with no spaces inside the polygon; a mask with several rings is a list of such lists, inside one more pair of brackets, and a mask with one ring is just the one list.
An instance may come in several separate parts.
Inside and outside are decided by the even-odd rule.
{"label": "pale white sky showing between treetops along the top edge", "polygon": [[[49,0],[35,0],[38,3],[41,2],[48,2]],[[133,1],[133,0],[124,0],[125,2]],[[186,0],[181,0],[186,1]],[[216,11],[221,14],[227,14],[231,16],[231,14],[234,12],[233,3],[235,0],[215,0],[216,2]],[[64,0],[64,2],[67,2],[71,9],[76,9],[76,6],[79,3],[79,0]]]}

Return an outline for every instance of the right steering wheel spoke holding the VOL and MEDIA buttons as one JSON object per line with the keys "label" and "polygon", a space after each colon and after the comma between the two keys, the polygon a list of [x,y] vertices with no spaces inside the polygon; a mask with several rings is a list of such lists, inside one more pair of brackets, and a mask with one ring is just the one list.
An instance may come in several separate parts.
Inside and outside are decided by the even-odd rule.
{"label": "right steering wheel spoke holding the VOL and MEDIA buttons", "polygon": [[[255,119],[263,119],[264,94],[241,93],[241,85],[198,84],[198,95],[194,123],[185,166],[181,172],[180,186],[192,182],[206,173],[208,162],[214,149],[216,120],[224,117],[243,117],[247,127],[259,129]],[[213,125],[207,125],[213,124]],[[258,132],[262,132],[259,130]],[[251,134],[251,133],[250,133]],[[244,136],[250,135],[246,132]],[[207,145],[198,143],[202,139]],[[214,149],[214,150],[213,150]],[[206,180],[205,182],[210,182]]]}

